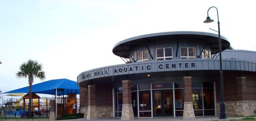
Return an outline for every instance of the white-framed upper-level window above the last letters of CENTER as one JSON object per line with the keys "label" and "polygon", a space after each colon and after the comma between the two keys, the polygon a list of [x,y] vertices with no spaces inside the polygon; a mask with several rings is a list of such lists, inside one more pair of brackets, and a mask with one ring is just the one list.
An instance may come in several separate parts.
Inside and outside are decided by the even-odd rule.
{"label": "white-framed upper-level window above the last letters of CENTER", "polygon": [[181,59],[195,59],[195,48],[194,47],[180,47],[180,58]]}

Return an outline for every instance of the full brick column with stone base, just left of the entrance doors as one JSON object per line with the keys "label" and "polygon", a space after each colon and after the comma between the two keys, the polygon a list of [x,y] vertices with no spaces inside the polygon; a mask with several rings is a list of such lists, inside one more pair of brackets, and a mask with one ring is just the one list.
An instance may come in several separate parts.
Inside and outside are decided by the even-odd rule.
{"label": "full brick column with stone base, just left of the entrance doors", "polygon": [[131,80],[122,80],[123,88],[123,104],[122,104],[122,120],[134,119],[134,113],[131,104]]}

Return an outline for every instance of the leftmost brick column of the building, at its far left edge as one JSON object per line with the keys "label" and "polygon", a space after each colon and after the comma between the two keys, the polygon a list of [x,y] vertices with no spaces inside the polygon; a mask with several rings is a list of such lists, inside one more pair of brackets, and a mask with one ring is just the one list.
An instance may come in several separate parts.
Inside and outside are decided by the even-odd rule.
{"label": "leftmost brick column of the building, at its far left edge", "polygon": [[80,112],[84,113],[84,118],[87,118],[87,106],[88,106],[88,90],[87,88],[80,87]]}

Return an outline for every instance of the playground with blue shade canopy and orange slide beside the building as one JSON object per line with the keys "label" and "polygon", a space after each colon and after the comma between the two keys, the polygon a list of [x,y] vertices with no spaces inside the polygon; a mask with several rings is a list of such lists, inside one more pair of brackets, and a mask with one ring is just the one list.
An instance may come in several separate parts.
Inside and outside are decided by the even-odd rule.
{"label": "playground with blue shade canopy and orange slide beside the building", "polygon": [[[29,93],[29,87],[23,87],[20,89],[12,90],[5,93]],[[32,116],[42,117],[49,116],[50,100],[42,100],[35,93],[55,95],[51,98],[51,106],[55,107],[55,116],[63,114],[74,114],[77,113],[77,100],[76,95],[79,94],[79,87],[76,82],[69,79],[54,79],[46,82],[32,85]],[[3,94],[3,93],[1,93]],[[35,97],[33,97],[35,95]],[[28,116],[28,94],[23,96],[22,100],[6,102],[1,107],[0,118],[8,117],[27,117]],[[52,109],[52,108],[51,108]],[[53,111],[53,110],[52,110]]]}

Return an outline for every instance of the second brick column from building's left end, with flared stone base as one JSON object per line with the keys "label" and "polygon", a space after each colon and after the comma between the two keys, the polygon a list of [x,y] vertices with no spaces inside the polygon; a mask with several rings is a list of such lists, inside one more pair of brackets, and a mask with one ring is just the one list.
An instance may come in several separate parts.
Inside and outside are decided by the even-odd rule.
{"label": "second brick column from building's left end, with flared stone base", "polygon": [[97,119],[95,85],[88,85],[88,110],[87,119]]}

